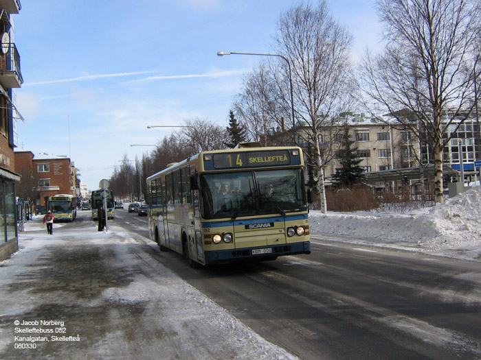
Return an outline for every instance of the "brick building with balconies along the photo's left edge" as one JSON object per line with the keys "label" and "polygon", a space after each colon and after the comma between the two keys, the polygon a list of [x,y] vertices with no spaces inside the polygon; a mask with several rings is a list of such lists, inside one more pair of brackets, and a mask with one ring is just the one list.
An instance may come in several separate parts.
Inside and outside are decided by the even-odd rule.
{"label": "brick building with balconies along the photo's left edge", "polygon": [[13,14],[21,10],[19,0],[0,0],[0,261],[19,248],[16,228],[14,147],[17,146],[16,121],[21,115],[14,105],[14,88],[23,78],[20,56],[14,43]]}

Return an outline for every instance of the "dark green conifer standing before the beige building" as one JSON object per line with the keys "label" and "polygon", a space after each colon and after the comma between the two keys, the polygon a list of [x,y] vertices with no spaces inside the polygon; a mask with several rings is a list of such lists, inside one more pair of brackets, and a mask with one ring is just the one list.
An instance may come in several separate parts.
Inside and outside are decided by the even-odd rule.
{"label": "dark green conifer standing before the beige building", "polygon": [[339,149],[337,153],[341,167],[332,177],[338,187],[352,187],[353,184],[364,178],[364,169],[359,166],[362,160],[357,158],[357,147],[351,147],[353,143],[346,126],[342,136],[342,149]]}

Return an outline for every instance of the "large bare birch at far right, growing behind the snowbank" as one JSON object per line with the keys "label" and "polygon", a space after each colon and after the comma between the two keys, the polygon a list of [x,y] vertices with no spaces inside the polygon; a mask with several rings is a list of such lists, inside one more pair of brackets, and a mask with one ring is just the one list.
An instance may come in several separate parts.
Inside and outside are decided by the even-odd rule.
{"label": "large bare birch at far right, growing behind the snowbank", "polygon": [[378,0],[377,10],[388,45],[378,56],[366,54],[361,88],[368,100],[431,145],[435,200],[443,202],[443,148],[451,141],[447,129],[454,124],[457,130],[477,100],[479,0]]}

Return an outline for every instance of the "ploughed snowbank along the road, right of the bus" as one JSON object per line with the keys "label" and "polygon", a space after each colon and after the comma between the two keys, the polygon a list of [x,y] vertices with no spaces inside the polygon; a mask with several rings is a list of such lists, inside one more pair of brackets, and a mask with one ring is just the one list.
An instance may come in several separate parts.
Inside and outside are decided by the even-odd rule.
{"label": "ploughed snowbank along the road, right of the bus", "polygon": [[481,187],[473,187],[443,204],[405,213],[311,211],[311,236],[481,261],[480,200]]}

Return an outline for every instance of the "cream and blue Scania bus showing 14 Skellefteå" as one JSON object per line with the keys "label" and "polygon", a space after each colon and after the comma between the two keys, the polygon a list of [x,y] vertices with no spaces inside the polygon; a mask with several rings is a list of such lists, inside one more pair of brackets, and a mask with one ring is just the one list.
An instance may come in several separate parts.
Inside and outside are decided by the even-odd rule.
{"label": "cream and blue Scania bus showing 14 Skellefte\u00e5", "polygon": [[192,267],[311,253],[302,150],[254,144],[201,152],[147,178],[150,238],[161,251]]}

